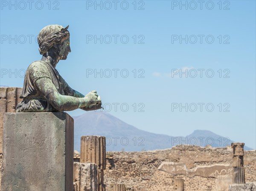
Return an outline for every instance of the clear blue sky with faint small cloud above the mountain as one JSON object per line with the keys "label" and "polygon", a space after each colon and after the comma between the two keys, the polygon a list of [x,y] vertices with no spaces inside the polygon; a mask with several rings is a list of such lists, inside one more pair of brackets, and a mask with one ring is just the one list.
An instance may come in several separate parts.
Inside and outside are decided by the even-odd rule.
{"label": "clear blue sky with faint small cloud above the mountain", "polygon": [[105,111],[145,131],[205,129],[256,148],[255,1],[15,2],[1,0],[0,85],[22,87],[41,59],[39,31],[69,25],[72,52],[56,68],[77,91],[96,89]]}

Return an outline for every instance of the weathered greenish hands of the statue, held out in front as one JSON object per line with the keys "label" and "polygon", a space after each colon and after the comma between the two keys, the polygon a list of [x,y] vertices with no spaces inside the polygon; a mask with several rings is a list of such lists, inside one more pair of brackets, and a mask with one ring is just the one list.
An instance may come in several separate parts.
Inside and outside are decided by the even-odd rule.
{"label": "weathered greenish hands of the statue, held out in front", "polygon": [[87,102],[87,105],[83,108],[86,111],[96,110],[102,108],[102,102],[100,96],[97,94],[97,91],[90,91],[84,96],[84,99]]}

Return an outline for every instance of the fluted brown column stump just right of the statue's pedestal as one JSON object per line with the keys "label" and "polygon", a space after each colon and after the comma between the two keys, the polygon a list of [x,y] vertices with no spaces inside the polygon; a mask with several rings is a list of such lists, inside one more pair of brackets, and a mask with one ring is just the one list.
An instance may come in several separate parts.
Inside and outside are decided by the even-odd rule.
{"label": "fluted brown column stump just right of the statue's pedestal", "polygon": [[82,136],[80,162],[93,162],[98,166],[98,190],[105,191],[104,171],[106,169],[106,140],[102,136]]}

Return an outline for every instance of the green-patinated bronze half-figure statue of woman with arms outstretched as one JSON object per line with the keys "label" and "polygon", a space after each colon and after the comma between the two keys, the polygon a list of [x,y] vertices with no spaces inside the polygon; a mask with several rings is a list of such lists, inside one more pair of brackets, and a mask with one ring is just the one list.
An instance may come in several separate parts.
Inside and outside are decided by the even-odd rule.
{"label": "green-patinated bronze half-figure statue of woman with arms outstretched", "polygon": [[70,49],[70,33],[59,25],[48,25],[38,34],[41,60],[26,70],[23,90],[16,112],[59,112],[81,108],[91,111],[101,108],[96,91],[86,96],[73,90],[55,69],[59,60],[66,60]]}

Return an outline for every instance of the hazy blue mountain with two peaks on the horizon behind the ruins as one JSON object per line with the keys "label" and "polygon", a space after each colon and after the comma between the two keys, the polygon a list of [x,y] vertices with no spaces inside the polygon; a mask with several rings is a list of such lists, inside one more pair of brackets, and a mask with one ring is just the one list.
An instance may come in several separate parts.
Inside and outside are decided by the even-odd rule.
{"label": "hazy blue mountain with two peaks on the horizon behind the ruins", "polygon": [[[186,137],[172,137],[140,130],[114,117],[105,111],[90,111],[74,118],[74,149],[80,151],[80,139],[83,135],[106,137],[107,151],[148,151],[172,148],[178,144],[212,145],[225,147],[233,143],[206,130],[195,130]],[[252,150],[245,147],[246,150]]]}

